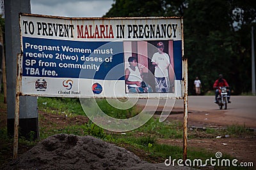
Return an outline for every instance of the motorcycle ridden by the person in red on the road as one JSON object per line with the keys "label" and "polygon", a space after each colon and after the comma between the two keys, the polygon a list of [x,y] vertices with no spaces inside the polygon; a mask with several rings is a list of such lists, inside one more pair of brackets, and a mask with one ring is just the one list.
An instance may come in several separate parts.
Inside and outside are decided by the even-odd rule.
{"label": "motorcycle ridden by the person in red on the road", "polygon": [[229,87],[218,87],[219,95],[217,97],[217,104],[220,107],[220,110],[222,110],[223,106],[224,109],[227,110],[227,104],[228,104],[228,90]]}

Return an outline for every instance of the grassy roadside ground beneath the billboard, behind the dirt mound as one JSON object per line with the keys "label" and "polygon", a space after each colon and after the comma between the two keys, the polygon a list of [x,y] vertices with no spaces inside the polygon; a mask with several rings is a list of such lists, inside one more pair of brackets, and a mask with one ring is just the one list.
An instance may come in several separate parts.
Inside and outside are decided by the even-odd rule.
{"label": "grassy roadside ground beneath the billboard, behind the dirt mound", "polygon": [[[6,114],[6,105],[3,104],[3,96],[1,95],[1,115]],[[109,115],[116,118],[124,118],[123,115],[116,113],[109,108],[106,101],[99,101],[100,107],[109,111]],[[93,124],[81,108],[79,99],[70,98],[54,98],[54,97],[38,97],[39,110],[39,126],[40,126],[40,141],[52,136],[53,134],[76,134],[79,136],[90,135],[95,138],[100,138],[109,143],[126,148],[135,153],[141,159],[152,163],[164,162],[170,156],[173,159],[182,159],[183,148],[181,146],[172,146],[159,143],[159,139],[183,139],[182,122],[177,120],[168,120],[160,123],[157,117],[152,117],[147,124],[140,128],[125,133],[109,132]],[[134,108],[127,110],[127,113],[135,111]],[[115,110],[116,112],[116,110]],[[123,113],[125,114],[125,113]],[[65,124],[61,124],[62,121]],[[74,121],[73,121],[74,120]],[[83,120],[83,121],[82,121]],[[2,124],[3,122],[1,122]],[[13,138],[7,135],[6,127],[0,126],[0,164],[12,160]],[[230,126],[227,129],[190,129],[188,132],[189,139],[193,138],[216,138],[216,136],[243,136],[244,134],[253,135],[254,132],[239,126]],[[29,150],[39,141],[24,139],[19,137],[19,155]],[[206,160],[210,157],[215,157],[215,152],[209,152],[204,148],[188,148],[188,159]],[[232,159],[230,155],[223,155],[223,159]],[[202,168],[202,167],[201,167]],[[218,167],[216,167],[218,169]],[[214,169],[216,169],[214,167]],[[204,167],[202,169],[207,169]],[[220,169],[225,169],[221,167]]]}

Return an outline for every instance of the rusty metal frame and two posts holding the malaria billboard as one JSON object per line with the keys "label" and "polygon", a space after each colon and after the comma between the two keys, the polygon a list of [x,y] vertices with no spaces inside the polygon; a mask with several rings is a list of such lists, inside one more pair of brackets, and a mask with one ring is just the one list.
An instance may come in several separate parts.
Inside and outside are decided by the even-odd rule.
{"label": "rusty metal frame and two posts holding the malaria billboard", "polygon": [[[35,14],[26,14],[20,13],[20,16],[32,16],[32,17],[43,17],[43,18],[58,18],[64,20],[140,20],[140,19],[180,19],[181,29],[182,29],[182,45],[181,45],[181,55],[182,55],[182,96],[181,97],[169,97],[168,99],[183,99],[184,101],[184,118],[183,118],[183,159],[187,159],[187,141],[188,141],[188,59],[184,58],[184,33],[183,33],[183,18],[182,17],[116,17],[116,18],[69,18],[69,17],[57,17],[57,16],[46,16],[46,15],[35,15]],[[20,31],[21,32],[21,31]],[[22,39],[20,33],[20,39]],[[22,45],[20,46],[22,48]],[[23,52],[23,51],[22,51]],[[17,56],[17,86],[16,86],[16,101],[15,101],[15,132],[14,132],[14,141],[13,141],[13,158],[17,158],[18,150],[18,129],[19,129],[19,96],[28,96],[27,94],[22,94],[22,54]],[[29,96],[38,96],[38,95],[29,95]],[[40,96],[40,95],[39,95]],[[58,97],[67,97],[67,96],[58,96]],[[97,98],[97,97],[95,97]],[[99,97],[106,98],[106,97]],[[113,98],[124,98],[124,97],[113,97]],[[140,99],[148,99],[145,96],[140,96]],[[166,97],[158,97],[157,99],[166,99]]]}

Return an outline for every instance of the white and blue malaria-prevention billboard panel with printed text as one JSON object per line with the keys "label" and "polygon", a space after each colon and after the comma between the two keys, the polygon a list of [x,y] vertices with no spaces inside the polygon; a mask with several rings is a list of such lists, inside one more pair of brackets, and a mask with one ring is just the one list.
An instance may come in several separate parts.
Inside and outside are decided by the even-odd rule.
{"label": "white and blue malaria-prevention billboard panel with printed text", "polygon": [[22,96],[182,97],[182,18],[20,14]]}

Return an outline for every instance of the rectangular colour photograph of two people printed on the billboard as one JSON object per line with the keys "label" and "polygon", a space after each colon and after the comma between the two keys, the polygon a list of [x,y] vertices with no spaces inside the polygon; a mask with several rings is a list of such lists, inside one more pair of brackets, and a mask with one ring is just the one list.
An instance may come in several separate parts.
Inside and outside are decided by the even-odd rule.
{"label": "rectangular colour photograph of two people printed on the billboard", "polygon": [[125,41],[124,52],[126,93],[175,92],[173,41]]}

